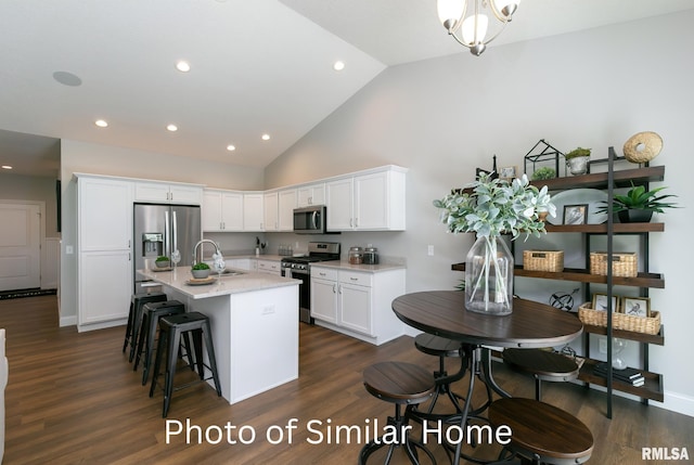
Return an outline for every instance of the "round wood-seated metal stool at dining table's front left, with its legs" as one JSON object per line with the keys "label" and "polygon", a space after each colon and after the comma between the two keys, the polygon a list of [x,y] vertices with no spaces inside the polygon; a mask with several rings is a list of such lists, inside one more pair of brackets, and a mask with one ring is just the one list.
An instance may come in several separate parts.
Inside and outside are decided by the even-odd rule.
{"label": "round wood-seated metal stool at dining table's front left, with its legs", "polygon": [[[436,391],[434,376],[423,367],[406,362],[382,362],[371,365],[363,373],[364,387],[372,396],[395,404],[395,416],[388,416],[388,425],[395,427],[397,440],[385,443],[381,438],[367,443],[359,453],[359,464],[365,464],[376,450],[388,447],[385,464],[390,463],[395,448],[403,445],[413,464],[419,464],[416,448],[421,449],[436,464],[432,452],[421,442],[410,439],[403,429],[416,405],[429,400]],[[407,405],[404,415],[400,406]]]}

